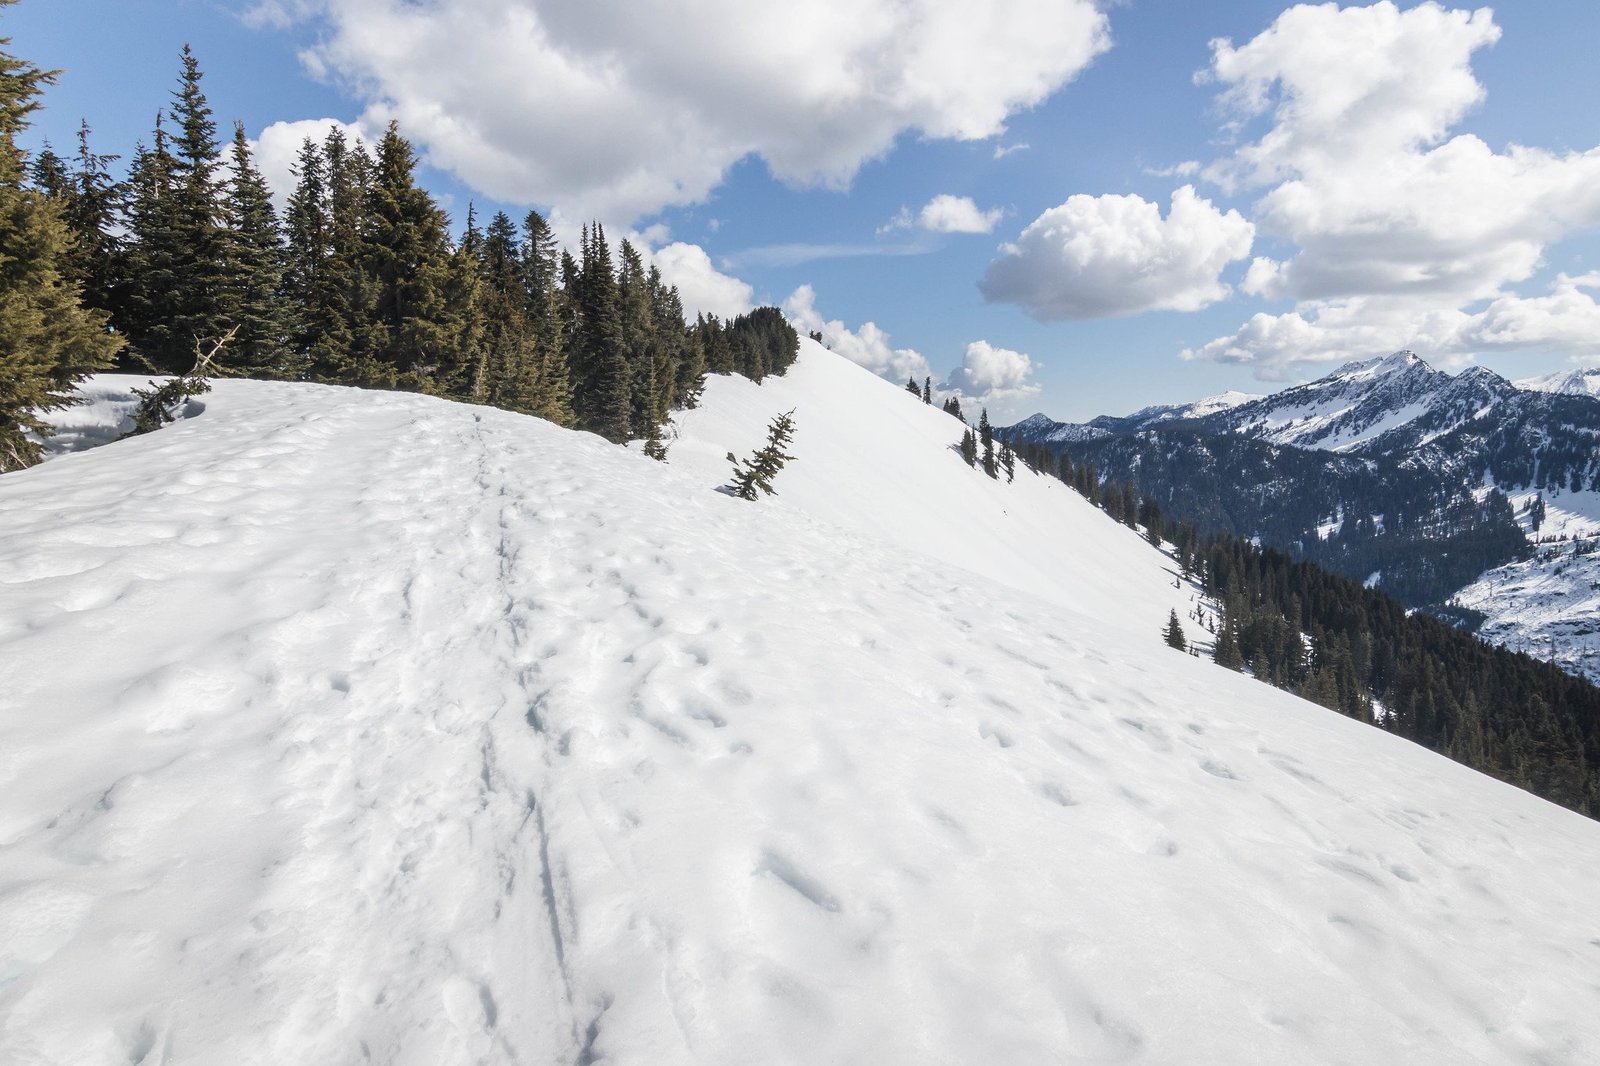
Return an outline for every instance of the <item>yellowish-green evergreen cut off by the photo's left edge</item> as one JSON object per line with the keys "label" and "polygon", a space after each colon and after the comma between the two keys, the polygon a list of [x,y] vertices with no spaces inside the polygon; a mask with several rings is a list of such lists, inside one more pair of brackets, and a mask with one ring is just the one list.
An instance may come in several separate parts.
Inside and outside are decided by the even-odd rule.
{"label": "yellowish-green evergreen cut off by the photo's left edge", "polygon": [[58,202],[24,181],[16,138],[54,74],[13,56],[10,43],[0,37],[0,472],[38,461],[37,437],[50,432],[40,411],[74,403],[72,384],[104,370],[120,346],[104,314],[80,304]]}

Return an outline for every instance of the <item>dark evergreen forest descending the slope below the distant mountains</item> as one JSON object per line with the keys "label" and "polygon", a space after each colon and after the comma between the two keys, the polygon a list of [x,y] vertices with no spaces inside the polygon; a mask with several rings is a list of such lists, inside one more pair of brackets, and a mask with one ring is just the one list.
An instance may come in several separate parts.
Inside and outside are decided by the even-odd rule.
{"label": "dark evergreen forest descending the slope below the distant mountains", "polygon": [[[1432,747],[1589,816],[1600,816],[1600,688],[1315,562],[1229,533],[1202,536],[1131,483],[1102,482],[1069,453],[1019,445],[1152,543],[1170,543],[1221,615],[1198,611],[1213,658],[1267,683]],[[1486,507],[1502,506],[1491,499]],[[1168,642],[1176,643],[1171,634]]]}

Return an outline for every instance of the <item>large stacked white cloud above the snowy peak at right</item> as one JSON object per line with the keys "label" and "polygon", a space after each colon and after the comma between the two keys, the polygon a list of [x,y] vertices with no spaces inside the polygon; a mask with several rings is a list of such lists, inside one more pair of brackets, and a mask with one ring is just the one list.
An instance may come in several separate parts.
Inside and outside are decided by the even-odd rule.
{"label": "large stacked white cloud above the snowy peak at right", "polygon": [[[1296,301],[1189,357],[1262,376],[1411,346],[1435,357],[1566,346],[1592,328],[1571,280],[1523,296],[1546,250],[1600,226],[1600,149],[1494,150],[1451,131],[1485,98],[1472,56],[1501,37],[1488,8],[1290,8],[1206,78],[1235,130],[1266,131],[1206,176],[1261,189],[1254,221],[1291,246],[1251,262],[1243,290]],[[1565,288],[1563,288],[1565,287]]]}

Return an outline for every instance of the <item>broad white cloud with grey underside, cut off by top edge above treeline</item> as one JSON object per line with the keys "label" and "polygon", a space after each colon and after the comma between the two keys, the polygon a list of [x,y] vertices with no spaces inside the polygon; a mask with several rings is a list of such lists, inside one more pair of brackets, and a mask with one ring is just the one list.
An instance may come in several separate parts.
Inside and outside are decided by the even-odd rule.
{"label": "broad white cloud with grey underside, cut off by top edge above treeline", "polygon": [[907,131],[974,141],[1109,48],[1093,0],[264,0],[315,72],[478,190],[627,221],[758,155],[843,186]]}

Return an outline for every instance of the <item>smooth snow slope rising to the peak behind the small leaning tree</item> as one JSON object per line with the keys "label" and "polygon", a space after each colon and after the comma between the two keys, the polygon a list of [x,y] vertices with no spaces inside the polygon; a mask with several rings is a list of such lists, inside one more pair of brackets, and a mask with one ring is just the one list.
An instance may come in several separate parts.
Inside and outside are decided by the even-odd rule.
{"label": "smooth snow slope rising to the peak behind the small leaning tree", "polygon": [[[794,410],[789,451],[798,458],[778,479],[782,509],[942,563],[930,576],[965,568],[1142,634],[1158,634],[1174,607],[1189,610],[1194,591],[1173,587],[1176,567],[1077,493],[1021,463],[1010,483],[970,469],[962,421],[909,392],[890,395],[875,375],[805,344],[786,376],[760,386],[710,378],[701,407],[675,416],[670,464],[698,487],[720,485],[726,453],[762,447],[771,419]],[[1072,554],[1088,565],[1062,559]]]}

